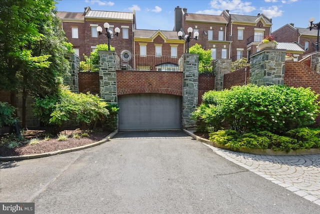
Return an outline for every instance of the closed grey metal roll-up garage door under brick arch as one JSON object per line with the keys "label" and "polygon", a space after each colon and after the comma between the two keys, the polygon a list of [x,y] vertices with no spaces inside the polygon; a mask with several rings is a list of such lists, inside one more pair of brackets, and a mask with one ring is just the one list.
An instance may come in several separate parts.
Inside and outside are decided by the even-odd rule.
{"label": "closed grey metal roll-up garage door under brick arch", "polygon": [[181,128],[181,97],[132,94],[118,97],[119,130]]}

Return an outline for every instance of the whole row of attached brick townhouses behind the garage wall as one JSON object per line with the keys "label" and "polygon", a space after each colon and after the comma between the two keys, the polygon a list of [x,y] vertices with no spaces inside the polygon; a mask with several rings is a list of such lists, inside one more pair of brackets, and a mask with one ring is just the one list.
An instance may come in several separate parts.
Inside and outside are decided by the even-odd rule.
{"label": "whole row of attached brick townhouses behind the garage wall", "polygon": [[[97,44],[107,43],[105,37],[98,36],[96,27],[103,27],[103,23],[108,22],[112,31],[113,28],[120,28],[119,38],[111,39],[110,44],[117,54],[126,55],[125,58],[121,57],[123,64],[127,64],[124,66],[135,68],[140,66],[142,69],[147,69],[147,66],[137,65],[142,61],[138,61],[135,56],[143,55],[144,52],[152,56],[158,55],[159,52],[161,56],[172,56],[172,53],[177,57],[181,56],[186,51],[186,44],[183,40],[179,41],[177,32],[182,31],[184,36],[189,27],[193,29],[193,33],[199,33],[197,41],[190,41],[190,47],[198,43],[202,48],[211,50],[213,59],[235,61],[242,57],[249,58],[250,54],[257,52],[256,46],[265,35],[270,34],[272,25],[271,19],[263,14],[233,15],[229,14],[228,10],[219,16],[189,14],[187,9],[180,7],[174,9],[173,31],[136,29],[134,11],[132,13],[92,11],[87,7],[83,13],[58,12],[57,15],[68,42],[73,44],[79,57],[83,54],[89,56]],[[154,43],[152,48],[151,43]],[[173,58],[170,63],[176,64]]]}

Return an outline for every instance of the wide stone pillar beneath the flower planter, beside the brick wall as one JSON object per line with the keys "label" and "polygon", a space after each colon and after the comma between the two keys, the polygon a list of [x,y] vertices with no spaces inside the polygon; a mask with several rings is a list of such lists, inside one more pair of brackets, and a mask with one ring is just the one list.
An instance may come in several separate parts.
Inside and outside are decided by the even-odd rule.
{"label": "wide stone pillar beneath the flower planter, beside the brick wall", "polygon": [[285,50],[266,49],[250,56],[249,83],[258,86],[283,85]]}

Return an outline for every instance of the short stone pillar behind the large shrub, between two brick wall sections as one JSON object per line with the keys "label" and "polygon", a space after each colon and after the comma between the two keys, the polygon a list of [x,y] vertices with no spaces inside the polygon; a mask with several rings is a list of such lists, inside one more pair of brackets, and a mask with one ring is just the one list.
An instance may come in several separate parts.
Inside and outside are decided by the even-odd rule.
{"label": "short stone pillar behind the large shrub, between two brick wall sections", "polygon": [[213,63],[213,74],[215,76],[214,90],[223,90],[223,75],[231,71],[232,60],[216,60]]}

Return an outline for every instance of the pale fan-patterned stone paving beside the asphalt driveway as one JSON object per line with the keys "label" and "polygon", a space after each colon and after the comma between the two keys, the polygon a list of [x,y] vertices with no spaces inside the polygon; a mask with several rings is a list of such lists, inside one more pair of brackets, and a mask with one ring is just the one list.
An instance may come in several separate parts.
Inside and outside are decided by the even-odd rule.
{"label": "pale fan-patterned stone paving beside the asphalt driveway", "polygon": [[274,156],[234,152],[205,144],[218,155],[320,205],[320,155]]}

